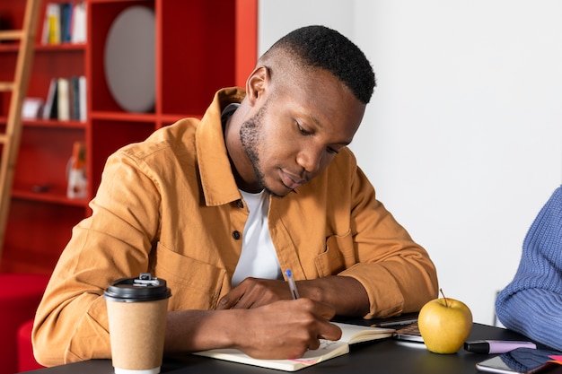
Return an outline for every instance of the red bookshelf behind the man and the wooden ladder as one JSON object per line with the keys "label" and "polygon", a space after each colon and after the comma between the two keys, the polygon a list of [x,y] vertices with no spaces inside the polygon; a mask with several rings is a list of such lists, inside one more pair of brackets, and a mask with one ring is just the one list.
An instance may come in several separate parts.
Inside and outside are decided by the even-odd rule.
{"label": "red bookshelf behind the man and the wooden ladder", "polygon": [[[44,1],[48,3],[79,3]],[[24,0],[0,4],[0,20],[17,28]],[[258,0],[86,0],[85,43],[44,45],[38,32],[28,97],[47,98],[51,79],[84,75],[85,121],[24,121],[13,198],[0,272],[49,274],[77,222],[90,214],[88,201],[111,152],[145,139],[181,117],[201,117],[215,91],[244,85],[257,57]],[[154,109],[130,113],[119,106],[106,81],[104,54],[110,28],[131,6],[154,12]],[[41,22],[42,23],[42,22]],[[1,23],[0,23],[1,24]],[[42,25],[41,25],[42,26]],[[40,26],[40,28],[41,28]],[[17,46],[0,44],[0,80],[10,80]],[[0,94],[0,126],[9,96]],[[66,197],[66,168],[73,144],[87,151],[88,197]]]}

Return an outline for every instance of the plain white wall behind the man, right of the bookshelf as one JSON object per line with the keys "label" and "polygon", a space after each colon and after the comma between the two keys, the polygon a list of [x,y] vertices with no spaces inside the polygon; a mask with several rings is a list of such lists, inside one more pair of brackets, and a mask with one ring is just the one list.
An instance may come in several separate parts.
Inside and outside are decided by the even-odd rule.
{"label": "plain white wall behind the man, right of the bookshelf", "polygon": [[562,183],[562,2],[261,0],[259,52],[321,23],[378,87],[352,149],[430,252],[448,297],[491,324],[522,239]]}

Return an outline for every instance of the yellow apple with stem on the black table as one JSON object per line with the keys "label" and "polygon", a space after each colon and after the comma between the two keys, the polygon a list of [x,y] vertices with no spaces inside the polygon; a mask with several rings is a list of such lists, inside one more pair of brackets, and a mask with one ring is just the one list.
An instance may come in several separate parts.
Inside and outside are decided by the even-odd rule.
{"label": "yellow apple with stem on the black table", "polygon": [[[442,291],[443,292],[443,291]],[[450,298],[430,300],[417,316],[417,326],[430,352],[459,351],[472,329],[472,313],[462,301]]]}

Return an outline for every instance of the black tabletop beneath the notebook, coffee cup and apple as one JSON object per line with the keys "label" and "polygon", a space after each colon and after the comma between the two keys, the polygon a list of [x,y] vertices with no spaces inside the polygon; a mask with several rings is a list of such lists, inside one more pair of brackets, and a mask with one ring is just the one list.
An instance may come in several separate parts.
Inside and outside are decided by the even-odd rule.
{"label": "black tabletop beneath the notebook, coffee cup and apple", "polygon": [[[373,323],[373,321],[363,320],[353,322],[357,325]],[[528,340],[524,336],[504,328],[474,324],[469,340],[476,339]],[[476,370],[475,364],[489,357],[492,355],[466,352],[463,348],[454,354],[436,354],[428,352],[424,344],[400,342],[389,338],[364,344],[353,344],[350,346],[348,354],[297,372],[303,374],[476,374],[479,371]],[[34,374],[113,374],[113,368],[110,360],[91,360],[30,372]],[[282,372],[191,354],[167,357],[162,365],[162,373],[170,374],[279,374]],[[555,367],[548,372],[549,374],[562,374],[562,366]]]}

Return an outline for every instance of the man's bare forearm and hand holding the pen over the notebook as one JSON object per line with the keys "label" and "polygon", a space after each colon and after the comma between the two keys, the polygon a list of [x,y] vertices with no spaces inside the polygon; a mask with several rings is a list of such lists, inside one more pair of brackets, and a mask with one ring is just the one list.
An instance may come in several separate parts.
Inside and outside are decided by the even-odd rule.
{"label": "man's bare forearm and hand holding the pen over the notebook", "polygon": [[341,337],[339,327],[329,323],[334,315],[332,307],[310,299],[278,300],[252,309],[172,311],[165,349],[238,348],[259,359],[294,359],[317,349],[319,339]]}

